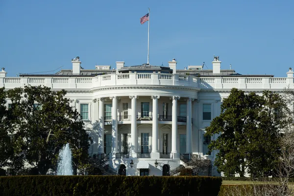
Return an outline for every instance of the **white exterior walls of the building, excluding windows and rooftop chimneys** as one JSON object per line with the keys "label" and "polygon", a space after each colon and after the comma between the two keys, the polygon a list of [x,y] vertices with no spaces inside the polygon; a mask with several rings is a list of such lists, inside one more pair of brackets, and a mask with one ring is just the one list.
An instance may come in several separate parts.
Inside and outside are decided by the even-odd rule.
{"label": "white exterior walls of the building, excluding windows and rooftop chimneys", "polygon": [[[276,78],[276,77],[196,77],[179,74],[162,74],[162,73],[123,73],[107,74],[96,77],[2,77],[0,78],[0,87],[7,90],[15,87],[24,87],[25,85],[45,85],[53,90],[67,90],[67,98],[74,109],[80,112],[80,104],[88,104],[89,119],[83,120],[85,129],[93,138],[93,145],[89,148],[90,154],[98,153],[99,140],[99,101],[98,98],[104,98],[104,104],[112,104],[110,97],[117,96],[118,110],[118,151],[122,152],[123,133],[128,134],[128,146],[131,147],[131,102],[129,96],[138,96],[136,99],[136,115],[141,114],[141,102],[149,102],[149,117],[152,117],[153,100],[151,96],[158,98],[158,116],[163,115],[163,103],[168,103],[167,116],[172,117],[172,100],[171,97],[180,97],[177,100],[177,116],[180,116],[180,104],[186,104],[188,98],[195,99],[192,101],[192,151],[193,154],[209,158],[212,162],[217,152],[213,151],[211,155],[203,154],[203,134],[205,128],[210,125],[211,120],[203,120],[203,104],[211,104],[211,119],[218,116],[221,112],[221,101],[228,97],[230,89],[235,87],[246,92],[262,93],[263,90],[269,89],[276,92],[282,92],[284,88],[294,88],[293,77]],[[10,101],[7,100],[7,104]],[[123,116],[123,103],[128,104],[129,119],[120,120]],[[104,105],[103,105],[104,108]],[[149,152],[152,151],[152,120],[137,120],[136,126],[136,149],[141,152],[141,133],[149,133]],[[168,134],[168,152],[172,151],[172,120],[158,121],[157,128],[157,146],[159,152],[163,151],[162,140],[163,133]],[[186,122],[176,122],[177,126],[177,150],[180,152],[180,134],[187,133]],[[104,121],[104,134],[112,134],[112,121]],[[212,137],[212,140],[217,136]],[[134,167],[131,168],[129,163],[133,160]],[[154,167],[157,160],[159,166]],[[114,169],[119,169],[121,164],[126,166],[126,175],[139,175],[136,165],[139,161],[149,163],[149,175],[162,175],[164,164],[170,166],[170,170],[175,169],[181,164],[178,158],[112,158],[109,165]],[[213,168],[212,175],[220,175],[216,168]]]}

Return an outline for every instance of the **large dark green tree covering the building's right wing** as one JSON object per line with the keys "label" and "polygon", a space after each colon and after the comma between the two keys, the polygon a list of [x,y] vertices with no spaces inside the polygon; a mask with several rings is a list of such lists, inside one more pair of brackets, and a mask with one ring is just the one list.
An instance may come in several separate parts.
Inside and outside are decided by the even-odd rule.
{"label": "large dark green tree covering the building's right wing", "polygon": [[270,175],[280,155],[279,134],[289,123],[288,107],[277,93],[262,96],[233,88],[221,104],[221,115],[206,128],[219,137],[209,145],[218,150],[215,165],[226,176]]}

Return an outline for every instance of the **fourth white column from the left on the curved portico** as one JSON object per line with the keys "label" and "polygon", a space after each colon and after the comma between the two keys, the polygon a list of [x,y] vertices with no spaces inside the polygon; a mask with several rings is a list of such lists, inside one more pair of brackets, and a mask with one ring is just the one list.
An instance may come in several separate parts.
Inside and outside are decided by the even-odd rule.
{"label": "fourth white column from the left on the curved portico", "polygon": [[159,159],[158,151],[158,98],[159,96],[151,96],[152,98],[152,151],[151,158]]}

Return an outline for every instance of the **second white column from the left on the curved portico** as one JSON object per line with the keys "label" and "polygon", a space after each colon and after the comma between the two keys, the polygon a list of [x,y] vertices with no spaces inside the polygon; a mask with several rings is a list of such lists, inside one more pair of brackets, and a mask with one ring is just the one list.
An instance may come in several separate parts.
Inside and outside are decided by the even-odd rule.
{"label": "second white column from the left on the curved portico", "polygon": [[110,97],[112,99],[112,153],[118,152],[118,98],[116,96]]}

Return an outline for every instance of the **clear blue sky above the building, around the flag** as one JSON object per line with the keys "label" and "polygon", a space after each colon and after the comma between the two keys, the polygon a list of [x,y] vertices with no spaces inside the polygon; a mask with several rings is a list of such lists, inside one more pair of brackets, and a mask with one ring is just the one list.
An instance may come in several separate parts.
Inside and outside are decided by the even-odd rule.
{"label": "clear blue sky above the building, around the flag", "polygon": [[[0,0],[0,58],[8,76],[147,63],[201,65],[285,77],[294,67],[294,0]],[[206,69],[206,68],[205,68]]]}

